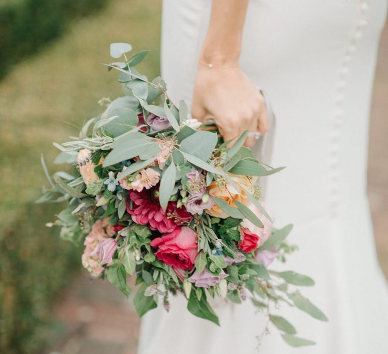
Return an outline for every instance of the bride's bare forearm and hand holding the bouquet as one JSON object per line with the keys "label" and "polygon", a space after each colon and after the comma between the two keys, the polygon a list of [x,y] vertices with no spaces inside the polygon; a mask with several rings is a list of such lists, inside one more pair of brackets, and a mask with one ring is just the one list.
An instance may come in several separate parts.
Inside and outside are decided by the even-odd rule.
{"label": "bride's bare forearm and hand holding the bouquet", "polygon": [[[213,0],[198,64],[191,114],[212,117],[225,140],[269,128],[263,97],[238,67],[247,7],[248,0]],[[254,142],[248,138],[246,145]]]}

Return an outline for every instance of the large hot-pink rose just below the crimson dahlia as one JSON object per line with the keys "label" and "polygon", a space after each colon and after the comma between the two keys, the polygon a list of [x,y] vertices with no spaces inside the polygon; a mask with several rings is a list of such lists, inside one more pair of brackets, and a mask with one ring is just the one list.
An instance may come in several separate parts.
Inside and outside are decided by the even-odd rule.
{"label": "large hot-pink rose just below the crimson dahlia", "polygon": [[178,227],[151,242],[155,255],[174,268],[191,270],[198,254],[198,235],[188,227]]}

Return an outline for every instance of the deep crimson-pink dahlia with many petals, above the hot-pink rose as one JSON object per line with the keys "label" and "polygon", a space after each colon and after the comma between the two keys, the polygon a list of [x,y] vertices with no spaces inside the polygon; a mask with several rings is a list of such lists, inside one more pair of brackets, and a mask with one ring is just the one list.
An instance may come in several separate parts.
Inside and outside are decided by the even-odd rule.
{"label": "deep crimson-pink dahlia with many petals, above the hot-pink rose", "polygon": [[[176,202],[169,202],[166,211],[162,209],[155,190],[130,191],[127,200],[127,212],[136,224],[150,224],[151,230],[165,234],[173,232],[178,226],[191,219],[185,207],[176,207]],[[132,201],[132,207],[131,207]]]}

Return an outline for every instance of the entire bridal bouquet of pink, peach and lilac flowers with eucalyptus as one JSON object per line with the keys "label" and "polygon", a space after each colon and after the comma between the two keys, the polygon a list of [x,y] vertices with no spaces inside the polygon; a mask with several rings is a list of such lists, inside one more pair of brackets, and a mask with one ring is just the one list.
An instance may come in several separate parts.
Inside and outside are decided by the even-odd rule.
{"label": "entire bridal bouquet of pink, peach and lilac flowers with eucalyptus", "polygon": [[66,201],[54,224],[62,238],[83,244],[82,264],[92,277],[107,278],[128,296],[127,276],[136,276],[139,316],[159,296],[168,311],[169,295],[181,293],[189,312],[218,324],[209,297],[250,297],[288,344],[313,344],[272,314],[283,302],[326,321],[295,290],[312,279],[267,269],[295,248],[284,241],[292,225],[272,227],[255,184],[281,168],[243,146],[247,132],[229,147],[216,126],[187,119],[184,102],[170,101],[160,77],[149,81],[133,68],[148,52],[127,58],[130,50],[111,45],[112,57],[124,57],[109,68],[120,71],[125,96],[101,100],[105,111],[78,137],[54,144],[61,150],[55,162],[73,165],[74,174],[56,172],[53,181],[42,159],[52,187],[39,202]]}

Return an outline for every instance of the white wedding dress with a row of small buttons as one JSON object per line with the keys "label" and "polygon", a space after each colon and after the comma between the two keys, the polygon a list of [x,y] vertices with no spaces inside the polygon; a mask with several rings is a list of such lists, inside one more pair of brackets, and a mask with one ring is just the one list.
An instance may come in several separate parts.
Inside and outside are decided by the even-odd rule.
{"label": "white wedding dress with a row of small buttons", "polygon": [[[262,354],[387,354],[388,291],[376,258],[366,197],[369,106],[386,0],[251,0],[241,68],[272,101],[272,158],[264,181],[275,226],[294,223],[300,250],[285,265],[316,281],[302,289],[329,318],[283,306],[315,346],[292,348],[270,327]],[[162,74],[170,97],[191,102],[211,0],[164,0]],[[265,326],[250,301],[219,304],[221,327],[171,299],[141,322],[139,354],[251,354]]]}

